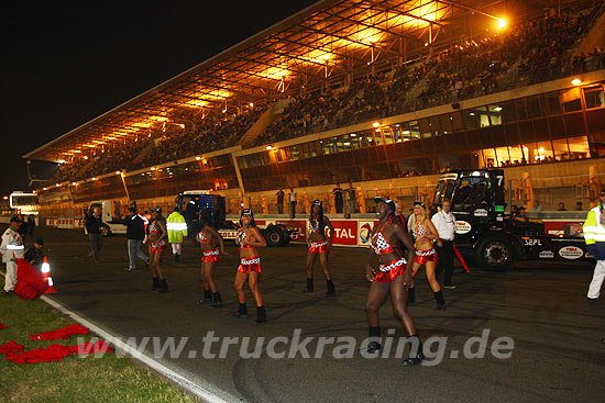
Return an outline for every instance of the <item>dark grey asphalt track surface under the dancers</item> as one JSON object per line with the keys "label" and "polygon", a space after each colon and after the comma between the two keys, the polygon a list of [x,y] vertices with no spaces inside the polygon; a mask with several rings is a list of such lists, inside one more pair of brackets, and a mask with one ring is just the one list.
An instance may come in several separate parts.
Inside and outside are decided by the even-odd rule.
{"label": "dark grey asphalt track surface under the dancers", "polygon": [[[202,338],[213,331],[219,337],[276,336],[292,338],[295,328],[301,338],[354,337],[367,334],[363,311],[367,283],[363,270],[365,249],[334,248],[330,266],[338,296],[323,296],[326,282],[316,267],[316,292],[305,287],[304,246],[261,249],[261,291],[268,323],[254,324],[254,304],[249,295],[248,320],[231,317],[237,307],[232,289],[239,264],[234,245],[231,257],[217,266],[217,280],[224,309],[198,306],[201,298],[200,253],[185,244],[183,259],[174,264],[166,254],[164,269],[170,292],[150,291],[148,269],[127,271],[124,237],[106,238],[102,262],[87,257],[87,237],[73,230],[36,228],[46,243],[57,294],[52,298],[103,329],[121,336],[187,338],[177,358],[157,358],[201,387],[224,392],[227,400],[241,402],[570,402],[603,401],[605,385],[605,299],[586,301],[592,276],[588,266],[524,264],[504,273],[471,268],[457,271],[455,290],[444,290],[446,312],[435,310],[435,301],[424,276],[417,278],[417,304],[410,307],[422,339],[447,337],[444,358],[436,366],[404,368],[394,354],[389,358],[337,359],[328,345],[322,358],[275,359],[266,350],[260,358],[240,357],[240,345],[231,346],[224,358],[205,359]],[[28,239],[32,240],[32,239]],[[29,244],[29,243],[28,243]],[[396,329],[391,304],[381,310],[383,336]],[[473,336],[490,331],[484,358],[464,357],[463,346]],[[510,358],[492,356],[490,346],[501,336],[514,339]],[[476,345],[475,345],[476,346]],[[277,352],[290,345],[277,344]],[[311,357],[317,343],[308,345]],[[433,345],[437,349],[437,345]],[[220,344],[210,352],[218,355]],[[452,358],[453,351],[458,358]],[[190,358],[196,351],[196,358]],[[154,355],[153,348],[145,352]],[[407,355],[407,354],[406,354]]]}

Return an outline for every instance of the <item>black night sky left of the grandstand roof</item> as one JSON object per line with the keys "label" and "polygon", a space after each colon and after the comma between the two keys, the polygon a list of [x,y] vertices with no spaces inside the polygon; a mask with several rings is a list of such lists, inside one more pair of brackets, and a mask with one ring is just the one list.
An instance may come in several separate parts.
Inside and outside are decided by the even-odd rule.
{"label": "black night sky left of the grandstand roof", "polygon": [[22,155],[314,2],[6,4],[0,194],[28,189]]}

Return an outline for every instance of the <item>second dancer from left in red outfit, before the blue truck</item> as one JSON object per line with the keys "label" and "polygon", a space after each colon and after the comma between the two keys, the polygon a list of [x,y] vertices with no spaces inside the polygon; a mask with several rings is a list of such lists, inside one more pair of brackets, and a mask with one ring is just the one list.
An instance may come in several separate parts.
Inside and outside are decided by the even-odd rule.
{"label": "second dancer from left in red outfit, before the blue truck", "polygon": [[[204,300],[199,304],[212,304],[212,307],[222,307],[222,298],[215,282],[215,264],[220,261],[220,255],[229,256],[224,251],[222,236],[212,227],[212,215],[208,210],[200,214],[201,231],[197,235],[201,247],[201,282],[204,284]],[[220,246],[217,249],[217,243]]]}

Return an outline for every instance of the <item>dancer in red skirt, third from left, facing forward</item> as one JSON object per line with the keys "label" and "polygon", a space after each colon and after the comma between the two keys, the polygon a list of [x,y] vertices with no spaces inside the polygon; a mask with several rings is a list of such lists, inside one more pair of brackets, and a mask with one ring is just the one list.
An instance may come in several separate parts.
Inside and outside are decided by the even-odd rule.
{"label": "dancer in red skirt, third from left, facing forward", "polygon": [[248,317],[248,306],[245,304],[244,286],[248,281],[250,292],[256,303],[256,323],[264,323],[267,321],[265,313],[265,305],[263,304],[263,296],[258,290],[258,281],[261,278],[261,258],[256,251],[257,247],[264,247],[267,245],[263,235],[256,224],[254,223],[254,215],[252,210],[244,209],[240,216],[240,230],[238,232],[238,245],[240,246],[240,259],[241,265],[238,267],[238,273],[235,275],[235,292],[238,293],[238,312],[233,314],[233,317]]}

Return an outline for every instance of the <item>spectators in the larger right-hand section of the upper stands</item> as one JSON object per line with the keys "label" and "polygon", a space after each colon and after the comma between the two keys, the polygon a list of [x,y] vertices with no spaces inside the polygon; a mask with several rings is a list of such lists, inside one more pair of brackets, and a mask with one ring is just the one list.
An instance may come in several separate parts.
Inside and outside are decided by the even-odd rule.
{"label": "spectators in the larger right-hand section of the upper stands", "polygon": [[565,9],[481,41],[353,82],[346,90],[293,99],[256,145],[605,68],[605,51],[572,56],[593,26],[596,4]]}

